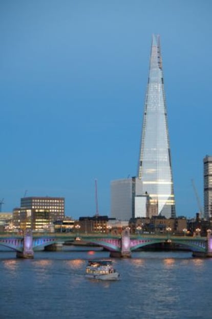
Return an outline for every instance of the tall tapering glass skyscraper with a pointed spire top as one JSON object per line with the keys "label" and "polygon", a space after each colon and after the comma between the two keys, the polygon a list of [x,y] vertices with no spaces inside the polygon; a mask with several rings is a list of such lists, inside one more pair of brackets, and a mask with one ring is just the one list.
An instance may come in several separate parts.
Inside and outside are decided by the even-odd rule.
{"label": "tall tapering glass skyscraper with a pointed spire top", "polygon": [[138,165],[143,193],[158,215],[175,217],[175,197],[169,147],[159,35],[153,35]]}

